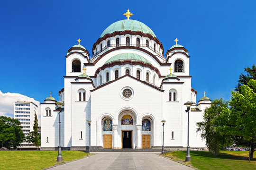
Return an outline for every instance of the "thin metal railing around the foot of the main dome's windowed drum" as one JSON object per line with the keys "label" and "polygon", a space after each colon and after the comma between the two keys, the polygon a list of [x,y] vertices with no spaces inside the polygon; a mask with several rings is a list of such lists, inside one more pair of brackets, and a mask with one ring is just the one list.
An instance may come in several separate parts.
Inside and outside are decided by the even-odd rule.
{"label": "thin metal railing around the foot of the main dome's windowed drum", "polygon": [[133,46],[133,47],[147,47],[150,50],[154,51],[156,54],[160,55],[161,57],[164,57],[166,59],[166,57],[161,54],[160,52],[154,50],[154,48],[152,48],[151,46],[147,45],[147,44],[109,44],[106,45],[105,47],[103,47],[100,51],[96,52],[95,54],[93,54],[92,56],[90,56],[89,59],[94,58],[96,55],[100,54],[102,51],[106,50],[109,47],[124,47],[124,46]]}

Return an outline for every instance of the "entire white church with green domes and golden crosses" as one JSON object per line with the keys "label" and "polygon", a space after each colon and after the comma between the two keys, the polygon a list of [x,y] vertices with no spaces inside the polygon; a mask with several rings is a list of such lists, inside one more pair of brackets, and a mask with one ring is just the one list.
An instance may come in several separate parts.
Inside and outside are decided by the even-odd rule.
{"label": "entire white church with green domes and golden crosses", "polygon": [[[161,148],[186,150],[189,112],[190,147],[206,148],[196,122],[202,121],[208,97],[191,87],[189,53],[176,42],[164,55],[163,44],[146,24],[127,19],[108,26],[93,44],[92,53],[78,39],[65,56],[61,146],[66,150],[91,148]],[[103,29],[102,29],[103,30]],[[171,42],[172,43],[172,42]],[[41,103],[41,150],[55,150],[59,111],[54,97]]]}

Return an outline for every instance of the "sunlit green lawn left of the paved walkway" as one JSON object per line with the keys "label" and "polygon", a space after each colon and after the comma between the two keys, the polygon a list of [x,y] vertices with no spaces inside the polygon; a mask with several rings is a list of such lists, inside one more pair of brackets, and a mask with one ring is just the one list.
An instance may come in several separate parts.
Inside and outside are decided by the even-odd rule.
{"label": "sunlit green lawn left of the paved walkway", "polygon": [[[0,170],[41,170],[55,165],[58,151],[0,151]],[[88,153],[62,151],[63,162],[80,159]]]}

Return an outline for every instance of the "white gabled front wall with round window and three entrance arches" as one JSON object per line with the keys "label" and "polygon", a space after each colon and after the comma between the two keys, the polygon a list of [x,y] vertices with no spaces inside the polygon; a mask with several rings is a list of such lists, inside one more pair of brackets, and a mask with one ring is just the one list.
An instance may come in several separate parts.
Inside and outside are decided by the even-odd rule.
{"label": "white gabled front wall with round window and three entrance arches", "polygon": [[[131,100],[121,98],[121,90],[124,87],[131,87],[134,96]],[[134,113],[134,124],[120,125],[119,114],[122,110],[132,110]],[[104,86],[91,93],[91,143],[92,145],[103,145],[101,118],[109,114],[113,117],[113,124],[118,125],[118,137],[116,145],[121,147],[121,130],[133,130],[133,147],[137,144],[137,129],[135,124],[141,126],[143,115],[150,114],[154,117],[155,131],[152,145],[161,145],[161,120],[162,120],[162,92],[142,84],[131,77],[124,77],[116,82]],[[160,127],[160,129],[159,129]],[[160,137],[160,140],[158,138]]]}

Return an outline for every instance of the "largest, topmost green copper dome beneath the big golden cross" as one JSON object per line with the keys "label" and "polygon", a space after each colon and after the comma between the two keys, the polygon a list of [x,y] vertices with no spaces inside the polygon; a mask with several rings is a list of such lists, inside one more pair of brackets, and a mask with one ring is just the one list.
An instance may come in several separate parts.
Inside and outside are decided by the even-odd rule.
{"label": "largest, topmost green copper dome beneath the big golden cross", "polygon": [[111,24],[103,31],[101,37],[103,37],[105,34],[114,33],[115,31],[125,30],[141,31],[144,34],[151,34],[153,37],[156,37],[154,32],[144,23],[132,19],[124,19]]}

